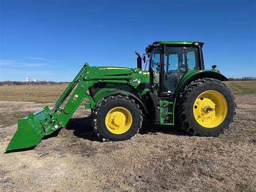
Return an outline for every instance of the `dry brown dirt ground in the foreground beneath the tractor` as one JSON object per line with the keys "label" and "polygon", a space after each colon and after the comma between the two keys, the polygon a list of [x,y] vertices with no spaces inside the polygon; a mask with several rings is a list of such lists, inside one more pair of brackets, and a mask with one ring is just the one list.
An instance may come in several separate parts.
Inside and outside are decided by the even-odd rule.
{"label": "dry brown dirt ground in the foreground beneath the tractor", "polygon": [[235,123],[217,138],[146,121],[133,140],[112,143],[97,139],[81,106],[35,149],[4,154],[17,120],[46,104],[0,101],[0,191],[255,192],[256,94],[236,103]]}

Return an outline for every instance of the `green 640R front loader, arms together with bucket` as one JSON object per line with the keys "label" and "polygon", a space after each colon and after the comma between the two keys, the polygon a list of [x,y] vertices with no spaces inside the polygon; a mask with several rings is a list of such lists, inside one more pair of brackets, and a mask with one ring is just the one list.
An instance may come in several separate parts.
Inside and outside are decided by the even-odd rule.
{"label": "green 640R front loader, arms together with bucket", "polygon": [[[137,87],[145,81],[145,75],[138,68],[98,68],[90,67],[88,63],[85,63],[52,109],[45,106],[43,109],[18,120],[18,129],[6,151],[36,146],[44,136],[64,127],[85,98],[90,100],[88,102],[89,107],[94,108],[96,101],[87,94],[88,88],[93,84],[128,84],[128,86]],[[74,92],[67,104],[61,108],[73,90]]]}

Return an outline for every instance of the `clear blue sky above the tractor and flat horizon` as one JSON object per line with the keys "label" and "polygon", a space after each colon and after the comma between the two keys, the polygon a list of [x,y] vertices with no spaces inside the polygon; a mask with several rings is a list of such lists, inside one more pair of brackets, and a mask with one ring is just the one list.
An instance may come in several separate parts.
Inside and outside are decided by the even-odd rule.
{"label": "clear blue sky above the tractor and flat horizon", "polygon": [[203,41],[206,68],[256,76],[255,0],[0,0],[0,80],[70,81],[86,61],[136,67],[156,40]]}

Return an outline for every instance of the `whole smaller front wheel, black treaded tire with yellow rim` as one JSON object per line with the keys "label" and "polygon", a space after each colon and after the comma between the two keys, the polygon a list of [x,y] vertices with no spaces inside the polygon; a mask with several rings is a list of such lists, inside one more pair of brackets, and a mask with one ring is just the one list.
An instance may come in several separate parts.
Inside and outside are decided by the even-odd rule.
{"label": "whole smaller front wheel, black treaded tire with yellow rim", "polygon": [[125,96],[109,96],[93,110],[92,127],[103,141],[131,139],[142,123],[139,105]]}

